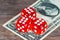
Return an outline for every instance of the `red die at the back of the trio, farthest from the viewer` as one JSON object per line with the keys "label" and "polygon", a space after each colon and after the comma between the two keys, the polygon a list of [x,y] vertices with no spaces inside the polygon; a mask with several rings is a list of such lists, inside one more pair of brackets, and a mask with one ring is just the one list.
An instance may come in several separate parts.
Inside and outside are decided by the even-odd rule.
{"label": "red die at the back of the trio, farthest from the viewer", "polygon": [[27,7],[22,10],[21,16],[28,17],[28,18],[36,18],[36,11],[33,7]]}

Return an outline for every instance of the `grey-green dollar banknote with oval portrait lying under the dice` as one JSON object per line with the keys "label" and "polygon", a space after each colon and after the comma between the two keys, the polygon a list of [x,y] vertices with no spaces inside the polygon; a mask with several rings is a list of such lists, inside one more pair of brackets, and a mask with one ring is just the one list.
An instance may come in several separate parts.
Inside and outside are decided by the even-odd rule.
{"label": "grey-green dollar banknote with oval portrait lying under the dice", "polygon": [[59,0],[37,0],[35,3],[29,6],[36,9],[38,18],[43,18],[48,23],[49,27],[47,31],[42,35],[18,32],[15,28],[15,23],[16,20],[20,17],[20,14],[16,15],[15,17],[7,21],[5,24],[3,24],[3,27],[7,28],[8,30],[23,38],[24,40],[42,40],[60,26],[60,5],[58,1]]}

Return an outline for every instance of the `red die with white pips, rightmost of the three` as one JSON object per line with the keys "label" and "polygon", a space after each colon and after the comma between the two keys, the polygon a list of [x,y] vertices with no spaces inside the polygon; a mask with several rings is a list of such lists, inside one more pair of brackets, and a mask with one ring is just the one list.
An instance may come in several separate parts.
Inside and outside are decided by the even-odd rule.
{"label": "red die with white pips, rightmost of the three", "polygon": [[35,20],[32,21],[31,30],[35,34],[43,34],[47,28],[48,28],[48,25],[44,19],[36,18]]}

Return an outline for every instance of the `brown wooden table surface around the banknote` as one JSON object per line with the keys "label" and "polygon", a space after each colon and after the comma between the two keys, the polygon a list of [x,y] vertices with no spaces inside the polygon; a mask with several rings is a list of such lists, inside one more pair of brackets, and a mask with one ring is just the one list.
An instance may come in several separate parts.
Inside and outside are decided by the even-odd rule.
{"label": "brown wooden table surface around the banknote", "polygon": [[[25,8],[36,0],[0,0],[0,40],[23,40],[2,25],[15,15],[17,15],[22,8]],[[60,27],[48,35],[44,40],[59,40]]]}

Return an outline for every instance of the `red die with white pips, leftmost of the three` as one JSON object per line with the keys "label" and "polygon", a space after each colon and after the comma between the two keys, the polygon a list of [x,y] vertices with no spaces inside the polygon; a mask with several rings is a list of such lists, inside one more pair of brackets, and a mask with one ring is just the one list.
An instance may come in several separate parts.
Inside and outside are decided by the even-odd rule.
{"label": "red die with white pips, leftmost of the three", "polygon": [[16,22],[16,28],[19,32],[28,32],[29,23],[30,23],[30,21],[27,17],[20,17]]}

